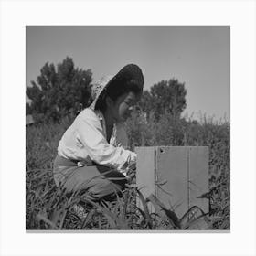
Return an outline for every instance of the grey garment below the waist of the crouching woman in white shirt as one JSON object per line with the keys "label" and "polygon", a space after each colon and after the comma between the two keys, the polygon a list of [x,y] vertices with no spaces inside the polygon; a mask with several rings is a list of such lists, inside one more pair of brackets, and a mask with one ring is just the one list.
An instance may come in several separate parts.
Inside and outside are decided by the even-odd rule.
{"label": "grey garment below the waist of the crouching woman in white shirt", "polygon": [[103,165],[78,166],[76,162],[57,155],[53,165],[57,187],[67,193],[86,193],[91,200],[112,201],[121,196],[128,180],[122,173]]}

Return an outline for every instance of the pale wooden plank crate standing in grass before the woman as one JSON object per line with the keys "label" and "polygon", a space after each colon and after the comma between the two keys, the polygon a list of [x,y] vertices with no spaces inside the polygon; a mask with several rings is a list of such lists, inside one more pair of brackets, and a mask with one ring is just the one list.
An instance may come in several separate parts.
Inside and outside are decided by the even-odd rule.
{"label": "pale wooden plank crate standing in grass before the woman", "polygon": [[[154,194],[180,218],[196,205],[208,212],[208,146],[136,147],[136,183],[144,197]],[[150,206],[150,210],[154,210]]]}

